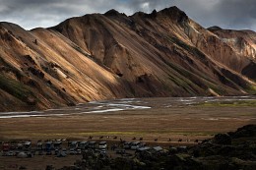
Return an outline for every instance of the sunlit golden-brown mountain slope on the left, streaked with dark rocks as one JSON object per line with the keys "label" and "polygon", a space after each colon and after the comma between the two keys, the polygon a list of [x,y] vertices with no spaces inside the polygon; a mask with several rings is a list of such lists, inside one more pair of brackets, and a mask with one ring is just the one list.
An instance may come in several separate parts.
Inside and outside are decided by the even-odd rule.
{"label": "sunlit golden-brown mountain slope on the left, streaked with dark rocks", "polygon": [[125,85],[116,76],[57,32],[1,24],[0,43],[1,89],[15,97],[10,103],[3,96],[3,109],[43,109],[125,97]]}

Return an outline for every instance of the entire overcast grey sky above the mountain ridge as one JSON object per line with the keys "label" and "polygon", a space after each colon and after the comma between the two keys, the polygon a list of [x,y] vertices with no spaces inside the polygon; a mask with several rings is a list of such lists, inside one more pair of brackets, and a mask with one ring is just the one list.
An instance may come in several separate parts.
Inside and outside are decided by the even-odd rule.
{"label": "entire overcast grey sky above the mountain ridge", "polygon": [[256,0],[0,0],[0,21],[47,28],[77,16],[116,9],[126,15],[177,6],[208,28],[256,30]]}

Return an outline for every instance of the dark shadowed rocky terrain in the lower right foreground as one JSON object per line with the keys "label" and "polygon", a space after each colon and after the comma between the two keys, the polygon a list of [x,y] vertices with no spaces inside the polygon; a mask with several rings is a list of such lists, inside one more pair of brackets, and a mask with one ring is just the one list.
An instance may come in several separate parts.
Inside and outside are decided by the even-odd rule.
{"label": "dark shadowed rocky terrain in the lower right foreground", "polygon": [[[47,166],[46,170],[54,167]],[[218,134],[190,147],[169,147],[161,151],[142,151],[133,157],[110,158],[93,151],[83,153],[83,159],[61,170],[253,170],[256,169],[256,125],[247,125],[236,132]]]}

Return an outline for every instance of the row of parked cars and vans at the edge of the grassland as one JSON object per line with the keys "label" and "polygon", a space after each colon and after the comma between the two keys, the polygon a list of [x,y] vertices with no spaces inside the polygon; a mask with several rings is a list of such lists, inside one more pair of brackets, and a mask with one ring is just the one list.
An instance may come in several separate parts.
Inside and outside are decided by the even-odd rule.
{"label": "row of parked cars and vans at the edge of the grassland", "polygon": [[[121,142],[111,144],[111,150],[115,150],[117,154],[125,153],[126,149],[138,150],[146,146],[145,142]],[[100,153],[106,153],[108,149],[107,142],[94,141],[38,141],[35,144],[32,142],[4,142],[2,143],[2,155],[17,156],[19,153],[25,153],[28,157],[32,155],[79,155],[83,150],[93,149]]]}

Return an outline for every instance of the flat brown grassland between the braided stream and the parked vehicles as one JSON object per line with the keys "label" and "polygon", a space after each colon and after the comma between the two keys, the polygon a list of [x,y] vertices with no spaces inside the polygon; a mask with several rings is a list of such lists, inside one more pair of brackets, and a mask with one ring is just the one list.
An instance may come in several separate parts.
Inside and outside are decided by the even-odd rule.
{"label": "flat brown grassland between the braided stream and the parked vehicles", "polygon": [[133,137],[152,142],[203,140],[256,123],[255,106],[153,107],[63,117],[0,119],[0,140],[88,139],[89,136]]}

